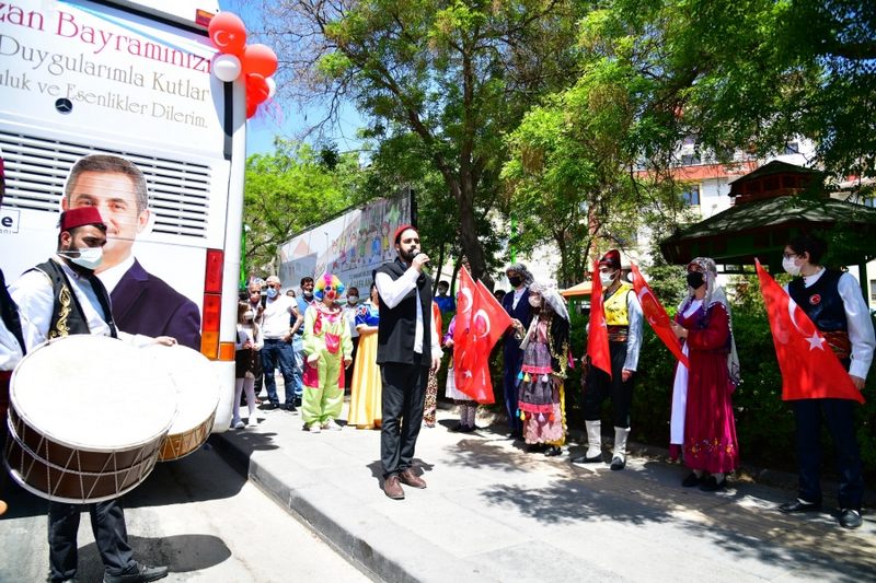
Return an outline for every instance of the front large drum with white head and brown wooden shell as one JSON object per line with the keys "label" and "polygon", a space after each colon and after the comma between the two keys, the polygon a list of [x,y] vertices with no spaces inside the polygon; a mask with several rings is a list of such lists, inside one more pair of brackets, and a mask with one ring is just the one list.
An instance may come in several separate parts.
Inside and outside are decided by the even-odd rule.
{"label": "front large drum with white head and brown wooden shell", "polygon": [[117,498],[152,470],[175,411],[168,373],[140,349],[105,336],[51,340],[12,375],[5,465],[48,500]]}

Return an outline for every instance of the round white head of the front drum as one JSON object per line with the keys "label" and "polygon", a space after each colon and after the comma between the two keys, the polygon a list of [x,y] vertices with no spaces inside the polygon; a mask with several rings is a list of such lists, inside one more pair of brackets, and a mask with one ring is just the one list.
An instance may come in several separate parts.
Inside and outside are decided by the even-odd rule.
{"label": "round white head of the front drum", "polygon": [[47,438],[84,451],[148,443],[168,431],[176,394],[140,349],[73,335],[28,353],[10,384],[18,415]]}

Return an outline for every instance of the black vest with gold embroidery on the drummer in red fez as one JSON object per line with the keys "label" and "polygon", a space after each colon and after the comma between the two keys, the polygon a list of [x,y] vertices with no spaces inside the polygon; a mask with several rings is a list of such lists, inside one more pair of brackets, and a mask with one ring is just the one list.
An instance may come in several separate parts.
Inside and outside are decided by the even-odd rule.
{"label": "black vest with gold embroidery on the drummer in red fez", "polygon": [[[39,264],[35,269],[44,272],[51,281],[51,289],[54,290],[55,303],[51,311],[51,322],[48,327],[48,337],[61,338],[71,334],[91,334],[89,329],[88,318],[82,306],[79,305],[79,300],[70,287],[70,281],[67,279],[67,273],[64,268],[56,261],[49,259],[44,264]],[[117,338],[116,325],[113,322],[113,312],[110,307],[110,294],[106,293],[106,288],[96,276],[93,273],[87,278],[94,289],[94,294],[103,308],[106,317],[106,323],[110,325],[110,330],[113,338]]]}

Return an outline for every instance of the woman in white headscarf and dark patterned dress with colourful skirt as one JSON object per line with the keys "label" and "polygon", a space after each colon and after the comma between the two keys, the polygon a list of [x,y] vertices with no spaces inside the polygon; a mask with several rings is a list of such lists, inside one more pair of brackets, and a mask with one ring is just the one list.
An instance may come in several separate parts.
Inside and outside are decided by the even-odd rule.
{"label": "woman in white headscarf and dark patterned dress with colourful skirt", "polygon": [[566,441],[563,382],[569,362],[568,311],[556,290],[541,283],[530,285],[528,301],[533,317],[520,342],[523,364],[518,404],[523,440],[530,451],[546,446],[544,455],[554,456]]}

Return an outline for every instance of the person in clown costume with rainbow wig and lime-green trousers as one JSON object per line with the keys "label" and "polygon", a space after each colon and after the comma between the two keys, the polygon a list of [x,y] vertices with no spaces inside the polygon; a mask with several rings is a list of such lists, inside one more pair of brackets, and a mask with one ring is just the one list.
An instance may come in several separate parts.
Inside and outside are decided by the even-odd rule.
{"label": "person in clown costume with rainbow wig and lime-green trousers", "polygon": [[353,362],[349,324],[337,298],[344,284],[331,273],[321,276],[313,294],[318,303],[304,316],[304,397],[301,417],[311,433],[339,431],[344,408],[344,370]]}

